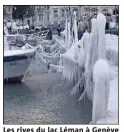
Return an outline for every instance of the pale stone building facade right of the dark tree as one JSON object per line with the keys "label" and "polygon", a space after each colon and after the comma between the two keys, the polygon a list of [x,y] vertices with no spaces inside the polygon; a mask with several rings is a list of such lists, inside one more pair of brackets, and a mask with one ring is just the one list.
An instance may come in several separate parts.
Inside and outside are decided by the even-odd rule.
{"label": "pale stone building facade right of the dark tree", "polygon": [[88,18],[96,15],[98,12],[104,13],[107,20],[110,20],[112,19],[111,16],[114,9],[115,6],[39,6],[36,13],[37,25],[64,25],[66,17],[73,16],[74,11],[77,12],[77,20],[87,21]]}

